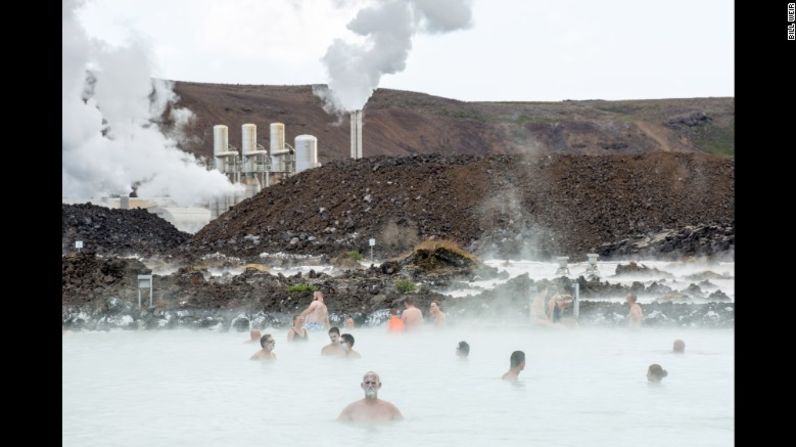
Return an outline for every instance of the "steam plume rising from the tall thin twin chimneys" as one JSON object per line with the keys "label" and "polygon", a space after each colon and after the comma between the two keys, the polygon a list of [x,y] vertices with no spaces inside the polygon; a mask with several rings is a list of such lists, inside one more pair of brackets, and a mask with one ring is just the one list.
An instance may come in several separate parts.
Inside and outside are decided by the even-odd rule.
{"label": "steam plume rising from the tall thin twin chimneys", "polygon": [[381,0],[361,9],[348,29],[364,42],[335,39],[329,46],[321,59],[329,91],[318,96],[337,112],[362,109],[382,75],[406,68],[415,33],[466,29],[471,17],[469,0]]}

